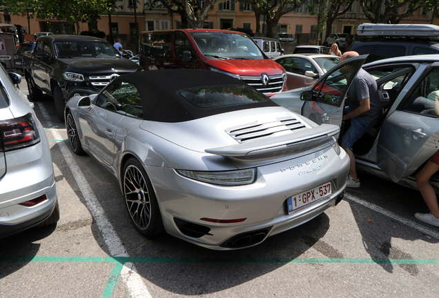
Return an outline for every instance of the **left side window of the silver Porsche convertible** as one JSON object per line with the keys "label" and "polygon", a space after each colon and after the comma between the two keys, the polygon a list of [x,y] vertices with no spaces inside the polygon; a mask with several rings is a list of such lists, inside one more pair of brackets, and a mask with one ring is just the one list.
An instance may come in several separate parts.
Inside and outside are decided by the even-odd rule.
{"label": "left side window of the silver Porsche convertible", "polygon": [[117,112],[130,117],[143,119],[144,112],[137,88],[124,81],[112,83],[101,92],[95,105],[110,112]]}

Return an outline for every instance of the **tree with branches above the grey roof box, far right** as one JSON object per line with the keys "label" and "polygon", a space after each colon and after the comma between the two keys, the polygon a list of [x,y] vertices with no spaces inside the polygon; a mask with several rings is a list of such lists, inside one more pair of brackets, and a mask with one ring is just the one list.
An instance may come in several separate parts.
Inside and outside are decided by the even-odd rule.
{"label": "tree with branches above the grey roof box, far right", "polygon": [[[432,1],[433,2],[433,1]],[[436,6],[437,6],[437,1]],[[360,6],[363,9],[364,15],[372,23],[399,23],[405,17],[409,17],[413,12],[424,6],[424,1],[410,1],[410,0],[360,0]],[[381,6],[378,15],[378,5]],[[405,6],[404,12],[399,12],[399,9]],[[384,10],[383,10],[384,8]]]}

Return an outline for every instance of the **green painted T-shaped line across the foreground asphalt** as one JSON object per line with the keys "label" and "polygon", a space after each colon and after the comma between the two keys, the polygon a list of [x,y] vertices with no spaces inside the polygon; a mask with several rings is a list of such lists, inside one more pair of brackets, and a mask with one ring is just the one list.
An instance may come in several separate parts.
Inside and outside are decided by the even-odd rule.
{"label": "green painted T-shaped line across the foreground asphalt", "polygon": [[121,271],[126,263],[223,263],[223,264],[395,264],[395,265],[439,265],[439,259],[289,259],[289,258],[257,258],[257,259],[221,259],[221,258],[173,258],[173,257],[0,257],[1,262],[88,262],[114,263],[115,266],[108,277],[101,297],[111,297],[115,290]]}

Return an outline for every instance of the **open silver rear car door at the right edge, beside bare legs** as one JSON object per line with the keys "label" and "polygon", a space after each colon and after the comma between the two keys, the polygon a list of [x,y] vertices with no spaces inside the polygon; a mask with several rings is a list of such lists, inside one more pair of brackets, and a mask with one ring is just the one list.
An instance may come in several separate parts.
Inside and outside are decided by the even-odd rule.
{"label": "open silver rear car door at the right edge, beside bare legs", "polygon": [[389,110],[377,146],[378,166],[394,182],[439,149],[439,63],[420,66],[406,88]]}

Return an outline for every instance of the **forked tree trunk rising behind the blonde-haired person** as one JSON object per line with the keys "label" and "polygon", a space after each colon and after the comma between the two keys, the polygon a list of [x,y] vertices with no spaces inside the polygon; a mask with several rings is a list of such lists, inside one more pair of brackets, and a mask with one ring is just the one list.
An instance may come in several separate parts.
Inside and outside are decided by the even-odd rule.
{"label": "forked tree trunk rising behind the blonde-haired person", "polygon": [[[326,34],[323,39],[325,40],[331,34],[332,23],[340,15],[345,14],[349,8],[351,8],[355,0],[319,0],[317,3],[309,3],[309,14],[315,14],[317,16],[316,31],[322,33],[326,28]],[[342,9],[343,7],[343,9]]]}

